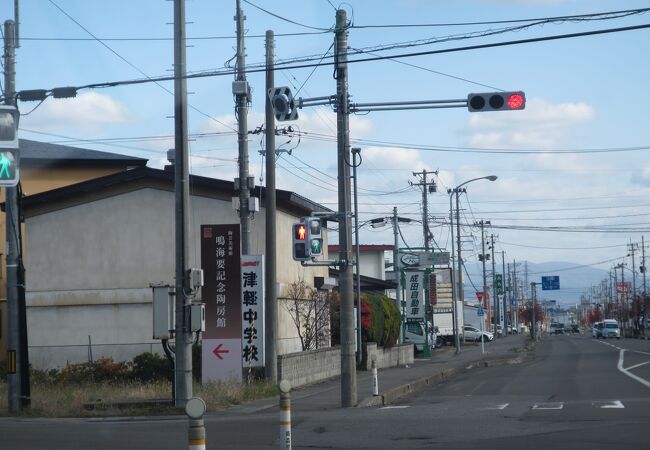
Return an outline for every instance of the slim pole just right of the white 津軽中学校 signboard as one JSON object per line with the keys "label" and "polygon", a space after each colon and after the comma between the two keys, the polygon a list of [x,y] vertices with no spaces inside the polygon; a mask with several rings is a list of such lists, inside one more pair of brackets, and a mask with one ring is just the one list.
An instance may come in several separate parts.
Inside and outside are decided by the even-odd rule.
{"label": "slim pole just right of the white \u6d25\u8efd\u4e2d\u5b66\u6821 signboard", "polygon": [[[266,89],[275,84],[274,71],[275,41],[273,31],[266,32]],[[264,96],[266,113],[266,361],[264,361],[266,379],[273,383],[278,381],[278,299],[277,299],[277,248],[276,248],[276,196],[275,196],[275,114],[268,95]]]}

